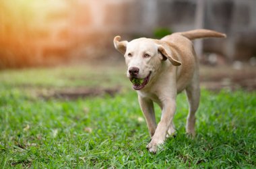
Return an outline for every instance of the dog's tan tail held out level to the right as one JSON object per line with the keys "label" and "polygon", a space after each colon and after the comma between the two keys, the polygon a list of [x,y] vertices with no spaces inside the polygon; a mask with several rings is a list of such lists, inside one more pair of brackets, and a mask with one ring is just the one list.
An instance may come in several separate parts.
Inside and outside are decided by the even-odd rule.
{"label": "dog's tan tail held out level to the right", "polygon": [[226,38],[226,34],[216,32],[213,30],[191,30],[188,32],[179,32],[182,36],[185,36],[189,40],[195,40],[197,38]]}

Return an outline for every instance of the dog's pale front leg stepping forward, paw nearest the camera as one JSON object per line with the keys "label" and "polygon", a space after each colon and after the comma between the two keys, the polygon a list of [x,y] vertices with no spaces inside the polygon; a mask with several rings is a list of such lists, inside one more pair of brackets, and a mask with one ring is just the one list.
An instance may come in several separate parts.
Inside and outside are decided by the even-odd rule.
{"label": "dog's pale front leg stepping forward, paw nearest the camera", "polygon": [[156,127],[156,131],[152,137],[150,144],[147,148],[150,152],[156,153],[157,147],[164,143],[166,133],[172,124],[172,119],[176,110],[176,99],[164,99],[162,103],[162,116],[161,120]]}

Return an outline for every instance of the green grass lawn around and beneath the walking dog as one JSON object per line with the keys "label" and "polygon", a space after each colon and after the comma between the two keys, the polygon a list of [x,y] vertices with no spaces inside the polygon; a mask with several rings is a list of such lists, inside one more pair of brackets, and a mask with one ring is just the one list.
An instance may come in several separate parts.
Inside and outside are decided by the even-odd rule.
{"label": "green grass lawn around and beneath the walking dog", "polygon": [[[125,68],[68,66],[0,72],[1,168],[255,168],[256,93],[202,90],[197,136],[185,135],[187,101],[177,99],[177,137],[150,154],[146,121]],[[72,101],[37,93],[123,86],[110,97]],[[160,109],[156,107],[157,119]]]}

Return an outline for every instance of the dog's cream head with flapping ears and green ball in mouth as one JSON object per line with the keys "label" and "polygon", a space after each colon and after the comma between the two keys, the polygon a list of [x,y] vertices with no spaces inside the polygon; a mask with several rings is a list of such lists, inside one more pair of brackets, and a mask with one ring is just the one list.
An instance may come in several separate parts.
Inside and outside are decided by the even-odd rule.
{"label": "dog's cream head with flapping ears and green ball in mouth", "polygon": [[120,40],[120,36],[114,38],[115,48],[125,56],[127,76],[135,90],[143,89],[165,60],[170,60],[174,66],[181,65],[170,50],[152,39],[139,38],[131,42]]}

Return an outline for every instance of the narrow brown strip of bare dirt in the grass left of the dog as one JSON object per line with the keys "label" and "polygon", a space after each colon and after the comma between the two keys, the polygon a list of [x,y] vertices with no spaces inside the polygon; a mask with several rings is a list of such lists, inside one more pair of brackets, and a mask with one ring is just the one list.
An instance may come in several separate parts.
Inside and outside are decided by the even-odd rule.
{"label": "narrow brown strip of bare dirt in the grass left of the dog", "polygon": [[47,91],[46,93],[41,93],[39,96],[44,99],[65,99],[65,100],[74,100],[85,97],[102,97],[104,95],[110,95],[114,97],[115,94],[119,93],[121,90],[120,87],[115,87],[113,89],[100,89],[100,88],[69,88],[69,89],[61,89],[56,91]]}

